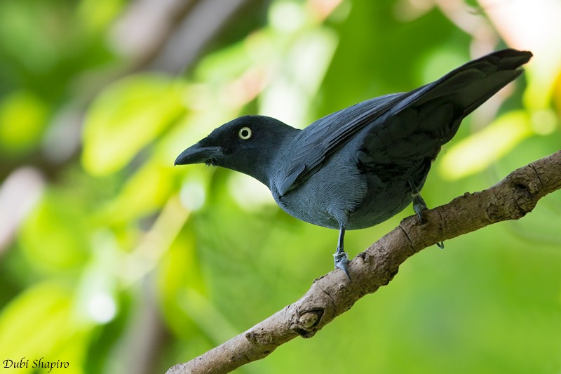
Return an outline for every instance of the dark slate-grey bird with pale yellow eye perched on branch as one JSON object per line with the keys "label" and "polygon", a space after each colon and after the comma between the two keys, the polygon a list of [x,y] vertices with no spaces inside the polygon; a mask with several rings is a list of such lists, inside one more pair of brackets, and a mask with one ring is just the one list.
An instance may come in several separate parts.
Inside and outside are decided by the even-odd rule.
{"label": "dark slate-grey bird with pale yellow eye perched on branch", "polygon": [[268,116],[242,116],[185,149],[177,164],[206,163],[264,183],[299,220],[339,229],[335,268],[349,277],[345,230],[377,225],[413,202],[440,147],[461,120],[522,74],[532,57],[505,49],[452,70],[433,83],[329,114],[303,130]]}

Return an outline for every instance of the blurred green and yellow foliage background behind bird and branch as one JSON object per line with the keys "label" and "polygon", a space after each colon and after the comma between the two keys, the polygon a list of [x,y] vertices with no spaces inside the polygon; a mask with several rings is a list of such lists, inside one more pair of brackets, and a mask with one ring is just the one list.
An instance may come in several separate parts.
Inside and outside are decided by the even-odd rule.
{"label": "blurred green and yellow foliage background behind bird and branch", "polygon": [[[474,46],[504,46],[498,18],[452,3],[459,13],[431,0],[274,0],[238,14],[177,76],[133,68],[115,46],[133,3],[0,2],[0,361],[163,373],[297,300],[330,271],[337,232],[290,218],[245,175],[173,168],[175,156],[240,114],[304,127],[436,79]],[[557,40],[464,121],[426,182],[430,206],[560,148]],[[346,248],[411,213],[349,232]],[[428,248],[316,338],[238,372],[559,373],[560,218],[555,193],[523,220]]]}

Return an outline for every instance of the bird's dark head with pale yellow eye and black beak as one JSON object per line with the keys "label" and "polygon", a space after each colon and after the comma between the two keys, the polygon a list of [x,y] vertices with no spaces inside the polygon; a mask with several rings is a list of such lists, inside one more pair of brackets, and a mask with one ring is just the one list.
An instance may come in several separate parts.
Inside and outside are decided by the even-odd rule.
{"label": "bird's dark head with pale yellow eye and black beak", "polygon": [[242,116],[185,149],[175,165],[206,163],[251,175],[269,187],[273,162],[299,130],[267,116]]}

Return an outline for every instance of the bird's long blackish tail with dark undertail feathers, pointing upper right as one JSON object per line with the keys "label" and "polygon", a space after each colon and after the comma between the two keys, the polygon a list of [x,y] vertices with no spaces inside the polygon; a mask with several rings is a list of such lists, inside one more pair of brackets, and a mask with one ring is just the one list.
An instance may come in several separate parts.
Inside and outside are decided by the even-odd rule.
{"label": "bird's long blackish tail with dark undertail feathers, pointing upper right", "polygon": [[[452,70],[442,78],[401,94],[363,145],[374,163],[434,159],[461,120],[523,70],[532,53],[505,49]],[[400,161],[401,160],[401,161]]]}

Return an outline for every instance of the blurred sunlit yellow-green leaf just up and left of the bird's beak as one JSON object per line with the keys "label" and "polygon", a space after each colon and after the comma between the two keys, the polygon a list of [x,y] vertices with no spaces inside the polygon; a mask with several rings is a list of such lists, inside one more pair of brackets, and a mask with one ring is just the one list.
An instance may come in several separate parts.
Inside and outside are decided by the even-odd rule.
{"label": "blurred sunlit yellow-green leaf just up and left of the bird's beak", "polygon": [[107,88],[88,111],[83,166],[93,175],[118,171],[184,113],[183,84],[156,74]]}

